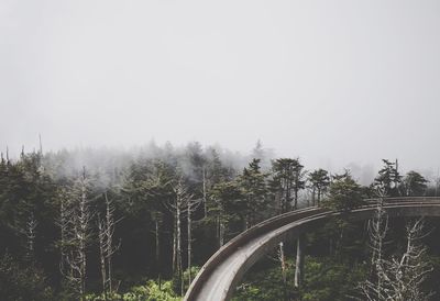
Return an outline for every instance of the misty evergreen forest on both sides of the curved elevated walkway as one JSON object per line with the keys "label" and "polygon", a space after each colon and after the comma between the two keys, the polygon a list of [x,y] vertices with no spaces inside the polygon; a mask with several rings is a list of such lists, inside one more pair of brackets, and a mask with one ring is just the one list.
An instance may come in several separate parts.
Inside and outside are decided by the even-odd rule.
{"label": "misty evergreen forest on both sides of the curved elevated walkway", "polygon": [[[350,170],[309,170],[299,157],[273,158],[260,143],[249,156],[197,142],[135,152],[23,148],[14,158],[7,150],[1,299],[182,300],[217,249],[271,216],[311,205],[344,211],[377,197],[438,196],[438,181],[404,174],[398,164],[382,159],[364,186]],[[295,242],[285,242],[246,274],[234,300],[385,300],[369,299],[371,279],[386,275],[372,258],[383,223],[378,210],[370,222],[342,216],[308,233],[301,287],[294,286]],[[437,300],[439,222],[386,223],[384,256],[406,254],[411,242],[420,255],[414,299],[393,300]]]}

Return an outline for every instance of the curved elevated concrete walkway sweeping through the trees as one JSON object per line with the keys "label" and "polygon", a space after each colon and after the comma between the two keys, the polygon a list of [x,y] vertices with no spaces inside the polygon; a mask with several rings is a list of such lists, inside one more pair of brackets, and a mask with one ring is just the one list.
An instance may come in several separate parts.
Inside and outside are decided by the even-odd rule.
{"label": "curved elevated concrete walkway sweeping through the trees", "polygon": [[[245,271],[279,242],[314,231],[331,216],[349,214],[355,220],[367,220],[375,207],[372,200],[365,207],[344,213],[311,207],[268,219],[213,254],[191,282],[184,300],[230,300]],[[389,198],[385,199],[384,209],[392,218],[440,216],[440,198]]]}

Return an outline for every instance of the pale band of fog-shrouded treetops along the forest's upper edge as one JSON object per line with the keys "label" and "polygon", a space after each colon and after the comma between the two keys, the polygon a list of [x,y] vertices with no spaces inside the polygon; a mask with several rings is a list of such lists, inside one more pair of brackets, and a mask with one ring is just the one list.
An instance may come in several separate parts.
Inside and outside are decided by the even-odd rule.
{"label": "pale band of fog-shrouded treetops along the forest's upper edge", "polygon": [[[90,175],[94,175],[95,186],[100,187],[102,190],[108,189],[112,185],[120,183],[123,180],[123,176],[131,165],[140,163],[154,163],[163,161],[173,168],[183,171],[185,177],[190,180],[195,180],[199,177],[197,168],[194,167],[194,160],[200,160],[198,164],[208,164],[216,158],[221,160],[221,164],[231,171],[233,177],[238,176],[244,167],[253,159],[260,159],[261,168],[264,172],[270,174],[273,161],[277,158],[276,149],[265,147],[261,140],[257,140],[253,149],[250,149],[248,154],[241,152],[234,152],[229,148],[224,148],[219,144],[216,145],[202,145],[199,142],[188,142],[186,145],[173,145],[172,142],[166,142],[163,145],[157,145],[154,141],[142,146],[131,147],[73,147],[73,148],[61,148],[59,150],[50,150],[43,153],[43,146],[40,146],[40,150],[33,148],[31,153],[42,153],[42,167],[46,172],[50,172],[54,178],[73,178],[77,177],[85,168]],[[10,153],[8,149],[6,153]],[[1,153],[4,159],[4,154]],[[19,156],[25,154],[25,146],[22,146],[21,154],[12,152],[15,155],[8,157],[16,159]],[[301,157],[295,156],[301,164]],[[369,186],[374,181],[377,175],[377,170],[381,168],[383,159],[397,161],[397,168],[400,174],[410,171],[405,168],[405,163],[398,161],[398,158],[378,158],[375,164],[356,164],[350,163],[343,167],[334,167],[331,160],[326,160],[324,166],[318,166],[316,168],[308,168],[305,166],[306,172],[311,172],[314,169],[323,168],[330,172],[330,175],[338,175],[349,172],[359,183]],[[433,168],[426,169],[414,169],[417,172],[424,175],[428,183],[432,187],[438,186],[440,176]],[[307,198],[307,196],[305,196]]]}

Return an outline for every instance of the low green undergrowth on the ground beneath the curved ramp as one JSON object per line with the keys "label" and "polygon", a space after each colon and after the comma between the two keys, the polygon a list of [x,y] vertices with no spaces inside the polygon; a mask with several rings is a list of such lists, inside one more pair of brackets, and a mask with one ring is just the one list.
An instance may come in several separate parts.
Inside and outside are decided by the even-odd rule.
{"label": "low green undergrowth on the ground beneath the curved ramp", "polygon": [[305,281],[294,288],[295,263],[287,261],[287,283],[283,283],[279,264],[255,266],[238,286],[234,301],[342,301],[353,293],[358,283],[365,279],[367,269],[363,265],[337,263],[329,258],[307,256]]}

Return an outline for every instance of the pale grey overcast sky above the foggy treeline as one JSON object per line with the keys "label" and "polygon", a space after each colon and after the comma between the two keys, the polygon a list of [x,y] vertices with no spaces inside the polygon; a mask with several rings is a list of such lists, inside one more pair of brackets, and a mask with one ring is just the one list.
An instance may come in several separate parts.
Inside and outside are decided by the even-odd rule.
{"label": "pale grey overcast sky above the foggy treeline", "polygon": [[440,1],[0,0],[0,148],[440,166]]}

